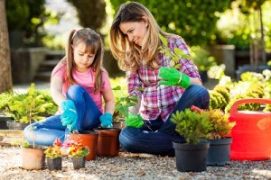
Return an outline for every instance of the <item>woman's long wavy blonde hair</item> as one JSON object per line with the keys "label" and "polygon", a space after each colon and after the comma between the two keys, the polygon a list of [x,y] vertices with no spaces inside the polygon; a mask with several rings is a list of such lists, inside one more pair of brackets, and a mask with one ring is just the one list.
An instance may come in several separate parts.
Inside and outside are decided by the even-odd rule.
{"label": "woman's long wavy blonde hair", "polygon": [[[148,23],[142,46],[130,42],[119,29],[120,23],[133,23],[145,21]],[[143,5],[135,2],[122,4],[115,16],[110,28],[110,49],[118,60],[118,66],[122,70],[136,70],[142,60],[153,68],[159,67],[158,53],[162,45],[159,33],[166,35],[156,23],[153,14]]]}

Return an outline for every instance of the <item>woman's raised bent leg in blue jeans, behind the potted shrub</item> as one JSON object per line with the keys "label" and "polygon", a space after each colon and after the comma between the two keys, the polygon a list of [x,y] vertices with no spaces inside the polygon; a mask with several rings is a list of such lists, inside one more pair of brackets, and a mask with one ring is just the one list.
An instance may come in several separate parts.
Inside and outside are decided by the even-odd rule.
{"label": "woman's raised bent leg in blue jeans, behind the potted shrub", "polygon": [[[172,113],[177,111],[183,111],[195,105],[201,109],[208,109],[210,103],[210,95],[208,90],[202,85],[190,85],[182,94],[180,101],[177,103]],[[164,122],[163,126],[159,130],[167,134],[177,135],[175,131],[176,125],[169,118]]]}

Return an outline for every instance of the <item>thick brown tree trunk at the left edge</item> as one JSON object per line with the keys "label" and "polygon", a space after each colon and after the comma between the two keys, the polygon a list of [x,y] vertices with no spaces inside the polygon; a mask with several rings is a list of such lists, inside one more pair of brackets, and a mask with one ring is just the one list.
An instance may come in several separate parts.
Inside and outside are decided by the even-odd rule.
{"label": "thick brown tree trunk at the left edge", "polygon": [[5,0],[0,0],[0,65],[0,93],[3,93],[13,87]]}

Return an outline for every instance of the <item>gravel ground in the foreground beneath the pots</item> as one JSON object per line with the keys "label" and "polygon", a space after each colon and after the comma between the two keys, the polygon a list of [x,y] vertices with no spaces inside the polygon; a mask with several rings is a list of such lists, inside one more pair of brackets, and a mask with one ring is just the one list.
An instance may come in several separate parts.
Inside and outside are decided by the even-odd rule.
{"label": "gravel ground in the foreground beneath the pots", "polygon": [[140,157],[120,152],[118,157],[97,157],[86,168],[73,170],[70,158],[63,158],[61,171],[24,170],[21,148],[0,147],[0,179],[271,179],[271,160],[229,161],[227,166],[207,166],[201,173],[181,173],[174,157]]}

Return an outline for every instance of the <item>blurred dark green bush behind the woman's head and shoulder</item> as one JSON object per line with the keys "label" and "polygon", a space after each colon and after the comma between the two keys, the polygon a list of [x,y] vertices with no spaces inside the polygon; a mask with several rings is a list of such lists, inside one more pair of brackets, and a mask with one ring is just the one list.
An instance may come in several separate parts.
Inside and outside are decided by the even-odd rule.
{"label": "blurred dark green bush behind the woman's head and shoulder", "polygon": [[[111,0],[117,9],[126,0]],[[216,40],[220,13],[229,9],[231,0],[137,0],[154,14],[164,31],[177,33],[190,45],[210,44]]]}

